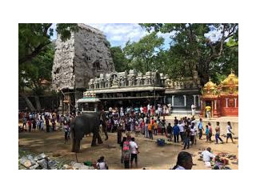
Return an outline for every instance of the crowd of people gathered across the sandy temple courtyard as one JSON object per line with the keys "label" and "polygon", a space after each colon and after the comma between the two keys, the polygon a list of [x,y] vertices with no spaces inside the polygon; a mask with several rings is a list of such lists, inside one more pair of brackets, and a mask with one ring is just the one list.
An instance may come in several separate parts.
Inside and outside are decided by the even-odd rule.
{"label": "crowd of people gathered across the sandy temple courtyard", "polygon": [[[174,122],[166,122],[166,115],[168,110],[164,110],[164,106],[158,106],[157,110],[154,106],[141,106],[141,107],[110,107],[108,111],[102,110],[102,113],[106,115],[106,128],[109,132],[117,132],[117,142],[121,146],[121,162],[126,169],[138,166],[138,143],[135,142],[135,138],[140,134],[145,138],[153,140],[154,136],[160,134],[165,136],[169,142],[182,142],[182,149],[189,149],[191,146],[197,144],[197,139],[202,140],[203,132],[206,135],[206,142],[212,142],[213,126],[210,122],[202,122],[202,118],[197,122],[194,118],[176,118]],[[167,112],[167,114],[166,114]],[[162,116],[162,117],[161,117]],[[43,113],[19,113],[19,119],[22,119],[22,130],[26,129],[31,131],[42,131],[46,127],[46,132],[56,131],[56,124],[62,127],[65,133],[65,143],[70,139],[70,122],[75,118],[75,114],[58,114],[56,112],[43,112]],[[102,121],[100,121],[102,123]],[[215,143],[218,141],[223,143],[220,137],[221,127],[220,123],[216,122],[215,128]],[[126,137],[122,137],[122,133],[126,133]],[[134,137],[131,137],[131,133],[134,133]],[[232,127],[230,122],[227,122],[226,126],[226,142],[230,138],[232,142]],[[209,158],[214,158],[214,155],[210,156],[210,150],[206,150],[204,155],[204,161],[206,166],[209,166]],[[185,151],[184,151],[185,152]],[[189,169],[191,168],[192,160],[187,153],[179,154],[178,164],[174,169]],[[208,155],[208,156],[207,156]],[[206,157],[207,156],[207,157]],[[187,165],[182,164],[180,158],[186,157]],[[191,160],[191,161],[190,161]],[[193,163],[192,163],[193,164]],[[191,167],[190,167],[191,166]],[[98,169],[108,169],[104,157],[98,159]]]}

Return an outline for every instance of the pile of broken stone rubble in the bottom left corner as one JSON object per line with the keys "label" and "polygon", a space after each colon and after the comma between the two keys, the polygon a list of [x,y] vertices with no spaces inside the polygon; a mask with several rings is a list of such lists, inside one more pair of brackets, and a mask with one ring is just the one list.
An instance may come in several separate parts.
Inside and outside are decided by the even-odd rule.
{"label": "pile of broken stone rubble in the bottom left corner", "polygon": [[95,170],[94,166],[85,166],[83,163],[71,162],[62,165],[62,162],[51,160],[46,154],[33,155],[28,154],[19,159],[19,170]]}

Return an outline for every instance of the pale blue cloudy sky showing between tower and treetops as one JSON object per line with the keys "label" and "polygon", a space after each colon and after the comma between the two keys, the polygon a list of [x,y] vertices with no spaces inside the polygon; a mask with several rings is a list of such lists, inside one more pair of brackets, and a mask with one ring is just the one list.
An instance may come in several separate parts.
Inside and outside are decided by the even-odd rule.
{"label": "pale blue cloudy sky showing between tower and treetops", "polygon": [[[149,34],[145,29],[142,29],[138,23],[85,23],[87,26],[92,26],[98,30],[101,30],[105,35],[106,39],[110,42],[111,46],[121,46],[122,48],[126,45],[126,42],[138,42],[140,38]],[[56,25],[52,26],[54,29]],[[56,32],[54,33],[53,39],[56,39]],[[170,34],[158,33],[159,37],[165,39],[163,49],[168,49],[170,46]]]}

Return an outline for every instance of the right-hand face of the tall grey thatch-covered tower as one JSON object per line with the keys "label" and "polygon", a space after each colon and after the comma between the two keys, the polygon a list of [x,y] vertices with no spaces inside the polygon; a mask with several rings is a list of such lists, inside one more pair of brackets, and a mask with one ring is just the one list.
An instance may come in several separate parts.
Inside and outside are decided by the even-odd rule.
{"label": "right-hand face of the tall grey thatch-covered tower", "polygon": [[79,24],[74,34],[74,71],[77,88],[88,88],[90,78],[114,71],[110,48],[102,31]]}

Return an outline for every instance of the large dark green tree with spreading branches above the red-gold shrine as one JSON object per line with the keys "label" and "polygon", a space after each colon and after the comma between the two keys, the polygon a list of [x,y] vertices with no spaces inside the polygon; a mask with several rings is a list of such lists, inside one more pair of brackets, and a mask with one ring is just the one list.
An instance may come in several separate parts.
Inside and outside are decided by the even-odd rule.
{"label": "large dark green tree with spreading branches above the red-gold shrine", "polygon": [[[192,71],[197,70],[201,85],[204,85],[209,77],[218,78],[221,74],[228,74],[230,68],[238,69],[237,23],[144,23],[141,26],[148,31],[172,34],[170,62],[166,63],[170,77],[191,76]],[[210,32],[217,35],[217,31],[216,40],[206,37]],[[230,39],[233,44],[228,43]]]}

